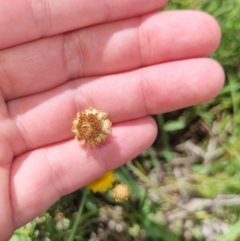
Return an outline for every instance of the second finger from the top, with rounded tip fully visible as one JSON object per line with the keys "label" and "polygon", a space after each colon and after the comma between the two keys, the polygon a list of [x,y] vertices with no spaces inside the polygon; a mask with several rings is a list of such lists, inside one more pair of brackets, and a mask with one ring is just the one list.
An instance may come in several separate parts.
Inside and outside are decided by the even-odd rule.
{"label": "second finger from the top, with rounded tip fully visible", "polygon": [[219,41],[219,26],[209,15],[162,12],[2,51],[0,86],[5,99],[17,98],[78,77],[208,56]]}

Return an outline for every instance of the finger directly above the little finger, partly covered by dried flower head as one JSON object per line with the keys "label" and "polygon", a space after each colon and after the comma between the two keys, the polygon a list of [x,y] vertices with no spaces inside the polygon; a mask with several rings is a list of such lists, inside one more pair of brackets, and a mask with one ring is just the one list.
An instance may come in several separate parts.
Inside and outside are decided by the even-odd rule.
{"label": "finger directly above the little finger, partly covered by dried flower head", "polygon": [[[192,59],[124,74],[76,80],[8,103],[25,150],[71,138],[77,111],[94,107],[113,123],[169,112],[213,98],[224,82],[210,59]],[[23,147],[22,147],[23,148]]]}

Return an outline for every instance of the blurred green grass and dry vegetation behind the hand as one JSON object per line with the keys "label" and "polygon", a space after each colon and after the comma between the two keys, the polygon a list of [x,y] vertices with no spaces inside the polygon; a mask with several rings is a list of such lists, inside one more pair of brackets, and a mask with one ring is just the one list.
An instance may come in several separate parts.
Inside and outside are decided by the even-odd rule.
{"label": "blurred green grass and dry vegetation behind the hand", "polygon": [[156,116],[148,150],[116,170],[131,198],[85,188],[59,200],[11,241],[240,240],[239,0],[172,0],[165,9],[200,9],[222,28],[212,56],[227,81],[202,105]]}

